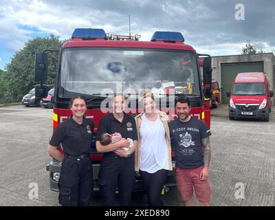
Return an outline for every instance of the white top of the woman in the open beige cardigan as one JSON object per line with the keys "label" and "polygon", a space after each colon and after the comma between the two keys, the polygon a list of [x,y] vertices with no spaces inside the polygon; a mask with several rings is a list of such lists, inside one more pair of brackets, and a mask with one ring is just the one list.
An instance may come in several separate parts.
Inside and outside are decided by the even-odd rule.
{"label": "white top of the woman in the open beige cardigan", "polygon": [[165,129],[159,115],[157,120],[150,121],[142,114],[140,137],[140,170],[148,173],[169,170]]}

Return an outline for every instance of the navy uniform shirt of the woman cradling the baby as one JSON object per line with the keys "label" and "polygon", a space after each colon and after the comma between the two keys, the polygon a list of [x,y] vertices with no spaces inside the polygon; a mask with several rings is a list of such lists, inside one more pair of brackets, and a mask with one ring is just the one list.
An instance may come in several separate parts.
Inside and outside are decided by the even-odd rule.
{"label": "navy uniform shirt of the woman cradling the baby", "polygon": [[[100,140],[102,133],[115,133],[118,132],[121,134],[122,138],[131,138],[132,140],[137,140],[137,128],[135,126],[135,119],[124,113],[122,122],[118,121],[113,113],[105,115],[98,124],[98,131],[96,133],[96,140]],[[114,157],[115,153],[107,152],[103,154],[103,157]],[[133,154],[131,155],[133,157]],[[134,158],[134,157],[133,157]]]}

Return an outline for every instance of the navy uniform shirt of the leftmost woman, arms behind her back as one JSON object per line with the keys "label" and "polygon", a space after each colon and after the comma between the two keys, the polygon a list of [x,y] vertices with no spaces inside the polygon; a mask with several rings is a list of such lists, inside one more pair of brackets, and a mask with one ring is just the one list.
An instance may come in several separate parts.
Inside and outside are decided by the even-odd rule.
{"label": "navy uniform shirt of the leftmost woman, arms behind her back", "polygon": [[62,144],[66,155],[78,156],[91,153],[91,137],[94,131],[94,122],[83,117],[83,123],[78,124],[72,116],[65,122],[58,124],[50,144]]}

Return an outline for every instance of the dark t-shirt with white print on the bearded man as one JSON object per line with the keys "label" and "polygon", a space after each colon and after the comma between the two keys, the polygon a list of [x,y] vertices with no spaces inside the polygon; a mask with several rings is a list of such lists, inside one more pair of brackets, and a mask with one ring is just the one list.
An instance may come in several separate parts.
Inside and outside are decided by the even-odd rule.
{"label": "dark t-shirt with white print on the bearded man", "polygon": [[179,118],[168,123],[170,135],[175,140],[177,168],[197,168],[203,165],[201,139],[211,135],[206,124],[197,118],[181,122]]}

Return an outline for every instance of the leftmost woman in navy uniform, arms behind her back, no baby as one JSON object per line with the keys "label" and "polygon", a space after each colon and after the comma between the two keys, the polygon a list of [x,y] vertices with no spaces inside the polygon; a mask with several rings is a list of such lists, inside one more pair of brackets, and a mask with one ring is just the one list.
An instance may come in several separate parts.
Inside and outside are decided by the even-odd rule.
{"label": "leftmost woman in navy uniform, arms behind her back, no baby", "polygon": [[[62,162],[58,181],[61,206],[89,206],[93,190],[90,153],[94,122],[84,117],[87,110],[84,97],[72,98],[70,107],[73,115],[54,130],[49,154]],[[56,149],[60,144],[64,155]]]}

